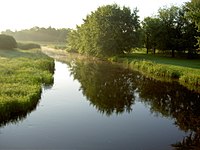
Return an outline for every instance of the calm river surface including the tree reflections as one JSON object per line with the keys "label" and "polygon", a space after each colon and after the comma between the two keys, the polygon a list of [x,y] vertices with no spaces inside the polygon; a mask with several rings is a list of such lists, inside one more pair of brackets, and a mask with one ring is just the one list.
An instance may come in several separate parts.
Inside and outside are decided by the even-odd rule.
{"label": "calm river surface including the tree reflections", "polygon": [[1,120],[0,149],[198,148],[199,94],[104,62],[55,66],[35,110]]}

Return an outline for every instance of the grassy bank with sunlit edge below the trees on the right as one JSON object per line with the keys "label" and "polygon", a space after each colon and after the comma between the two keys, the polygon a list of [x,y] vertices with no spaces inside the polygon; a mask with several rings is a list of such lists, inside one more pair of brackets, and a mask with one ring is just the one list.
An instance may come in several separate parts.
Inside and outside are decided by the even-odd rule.
{"label": "grassy bank with sunlit edge below the trees on the right", "polygon": [[151,54],[129,54],[110,58],[122,62],[131,69],[138,70],[151,77],[178,80],[190,89],[199,90],[200,60],[170,58]]}

